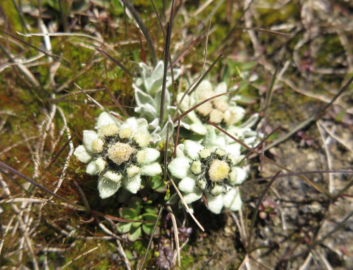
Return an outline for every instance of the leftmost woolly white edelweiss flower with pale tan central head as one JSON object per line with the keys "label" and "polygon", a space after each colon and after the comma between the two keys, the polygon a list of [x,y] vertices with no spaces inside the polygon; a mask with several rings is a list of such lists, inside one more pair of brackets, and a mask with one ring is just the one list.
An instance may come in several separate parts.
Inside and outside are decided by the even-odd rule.
{"label": "leftmost woolly white edelweiss flower with pale tan central head", "polygon": [[88,163],[86,173],[99,175],[101,198],[112,196],[121,186],[131,193],[140,189],[141,175],[154,176],[162,172],[155,160],[160,152],[147,147],[150,133],[147,121],[130,117],[124,123],[102,112],[96,123],[98,131],[84,130],[83,145],[74,155]]}

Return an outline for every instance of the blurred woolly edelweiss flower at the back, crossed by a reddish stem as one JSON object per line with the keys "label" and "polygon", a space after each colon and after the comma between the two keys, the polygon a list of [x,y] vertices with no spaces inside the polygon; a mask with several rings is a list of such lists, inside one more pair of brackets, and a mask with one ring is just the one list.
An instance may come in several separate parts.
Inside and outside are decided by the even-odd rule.
{"label": "blurred woolly edelweiss flower at the back, crossed by a reddish stem", "polygon": [[[186,111],[206,99],[225,92],[227,92],[227,85],[225,82],[221,82],[213,90],[209,81],[202,81],[191,95],[186,95],[184,97],[180,109],[181,111]],[[178,102],[183,95],[184,93],[179,93],[177,95]],[[245,110],[243,107],[237,106],[234,101],[229,100],[228,95],[224,95],[197,107],[195,111],[190,112],[184,117],[185,119],[181,121],[181,125],[197,134],[205,135],[207,129],[202,124],[205,122],[205,119],[208,119],[215,124],[232,126],[243,119],[244,113]]]}

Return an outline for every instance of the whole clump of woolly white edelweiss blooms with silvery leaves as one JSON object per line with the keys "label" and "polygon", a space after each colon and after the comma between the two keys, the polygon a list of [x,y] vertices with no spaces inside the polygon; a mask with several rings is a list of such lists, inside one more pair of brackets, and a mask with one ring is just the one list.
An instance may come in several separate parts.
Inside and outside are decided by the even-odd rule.
{"label": "whole clump of woolly white edelweiss blooms with silvery leaves", "polygon": [[[177,106],[171,104],[170,93],[166,92],[164,118],[159,121],[163,62],[154,69],[139,64],[138,77],[134,83],[135,112],[142,118],[130,117],[120,123],[107,112],[101,113],[96,124],[97,131],[85,130],[83,145],[76,148],[74,155],[88,163],[86,173],[98,175],[98,190],[102,198],[112,196],[120,187],[131,193],[140,189],[141,176],[155,176],[162,172],[156,160],[160,152],[148,147],[150,142],[163,140],[167,129],[169,135],[175,123],[171,117]],[[174,69],[174,78],[180,70]],[[167,87],[171,85],[171,76],[167,75]],[[203,81],[193,93],[179,93],[177,102],[179,113],[188,110],[199,102],[215,95],[227,92],[222,82],[213,89],[209,81]],[[243,107],[236,104],[229,95],[212,99],[181,119],[181,127],[191,133],[203,135],[198,141],[183,140],[177,147],[176,158],[168,164],[173,177],[179,178],[179,189],[187,204],[203,197],[208,209],[220,213],[222,208],[237,211],[242,205],[239,186],[246,178],[246,172],[237,166],[241,155],[241,146],[228,136],[216,131],[206,123],[206,119],[220,125],[228,133],[253,146],[258,134],[251,129],[258,115],[251,116],[240,123],[245,114]],[[192,136],[190,136],[192,137]],[[190,138],[189,137],[189,138]]]}

